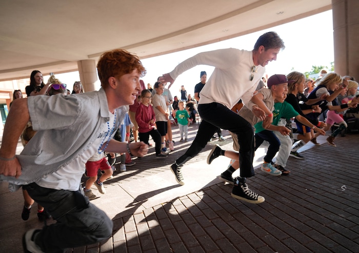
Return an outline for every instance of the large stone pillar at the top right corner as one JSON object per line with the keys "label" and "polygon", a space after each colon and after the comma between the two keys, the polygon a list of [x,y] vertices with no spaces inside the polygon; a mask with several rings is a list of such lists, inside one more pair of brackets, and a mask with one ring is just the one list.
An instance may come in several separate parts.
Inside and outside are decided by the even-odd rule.
{"label": "large stone pillar at the top right corner", "polygon": [[[359,80],[359,10],[358,0],[332,0],[334,68],[340,75]],[[325,43],[318,41],[318,43]]]}

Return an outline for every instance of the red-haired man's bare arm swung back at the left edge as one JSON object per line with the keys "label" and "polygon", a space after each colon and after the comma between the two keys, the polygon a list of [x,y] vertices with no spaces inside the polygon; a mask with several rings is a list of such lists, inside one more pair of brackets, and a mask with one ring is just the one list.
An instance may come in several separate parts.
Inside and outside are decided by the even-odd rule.
{"label": "red-haired man's bare arm swung back at the left edge", "polygon": [[[30,120],[27,99],[17,99],[11,105],[4,127],[3,141],[0,148],[0,174],[18,178],[21,165],[14,158],[20,135]],[[14,158],[14,159],[12,159]]]}

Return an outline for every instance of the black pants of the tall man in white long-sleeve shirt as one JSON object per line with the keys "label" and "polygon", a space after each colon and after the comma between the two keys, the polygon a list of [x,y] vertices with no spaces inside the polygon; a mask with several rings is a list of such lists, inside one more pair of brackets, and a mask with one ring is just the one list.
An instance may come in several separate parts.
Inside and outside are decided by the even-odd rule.
{"label": "black pants of the tall man in white long-sleeve shirt", "polygon": [[195,157],[206,146],[218,128],[222,128],[237,134],[240,144],[241,177],[254,176],[254,132],[248,121],[220,103],[200,104],[198,111],[202,121],[197,135],[186,153],[176,160],[176,164],[183,165]]}

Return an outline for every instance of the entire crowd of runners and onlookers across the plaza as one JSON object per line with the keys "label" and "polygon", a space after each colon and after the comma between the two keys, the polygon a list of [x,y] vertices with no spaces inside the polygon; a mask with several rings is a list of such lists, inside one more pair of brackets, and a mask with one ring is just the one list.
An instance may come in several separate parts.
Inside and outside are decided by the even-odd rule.
{"label": "entire crowd of runners and onlookers across the plaza", "polygon": [[[0,148],[0,180],[9,182],[10,190],[22,187],[24,192],[22,218],[29,218],[36,202],[39,219],[57,221],[27,231],[26,250],[63,252],[109,238],[113,224],[89,202],[97,198],[92,185],[105,194],[104,181],[112,177],[117,155],[121,157],[120,171],[126,171],[126,165],[135,164],[131,157],[148,153],[150,136],[155,157],[168,158],[174,150],[173,122],[178,124],[182,143],[188,142],[191,122],[201,118],[190,147],[170,166],[178,184],[185,184],[185,163],[213,141],[215,133],[218,141],[223,141],[221,129],[226,129],[232,135],[233,150],[215,145],[207,163],[220,155],[230,158],[220,178],[233,184],[231,196],[253,204],[264,202],[247,184],[247,179],[255,176],[254,151],[267,141],[261,170],[286,176],[290,173],[288,158],[303,159],[298,149],[309,141],[317,144],[318,134],[324,135],[338,124],[327,138],[335,146],[336,135],[347,127],[346,111],[358,103],[358,84],[335,72],[323,73],[319,82],[315,80],[316,86],[296,71],[264,78],[265,66],[276,61],[283,49],[280,36],[267,32],[252,51],[231,48],[199,53],[159,76],[153,88],[148,84],[147,89],[140,80],[146,74],[144,66],[126,50],[100,57],[98,91],[85,92],[81,82],[75,82],[70,92],[54,75],[45,84],[42,73],[34,70],[26,87],[27,98],[20,90],[13,93]],[[215,67],[208,82],[202,71],[194,98],[184,85],[179,90],[181,99],[172,98],[170,88],[176,77],[196,65]],[[324,113],[325,122],[318,120]],[[291,127],[292,118],[296,131]],[[19,137],[24,150],[15,155]],[[237,169],[240,176],[232,178]],[[84,173],[88,179],[82,187]]]}

